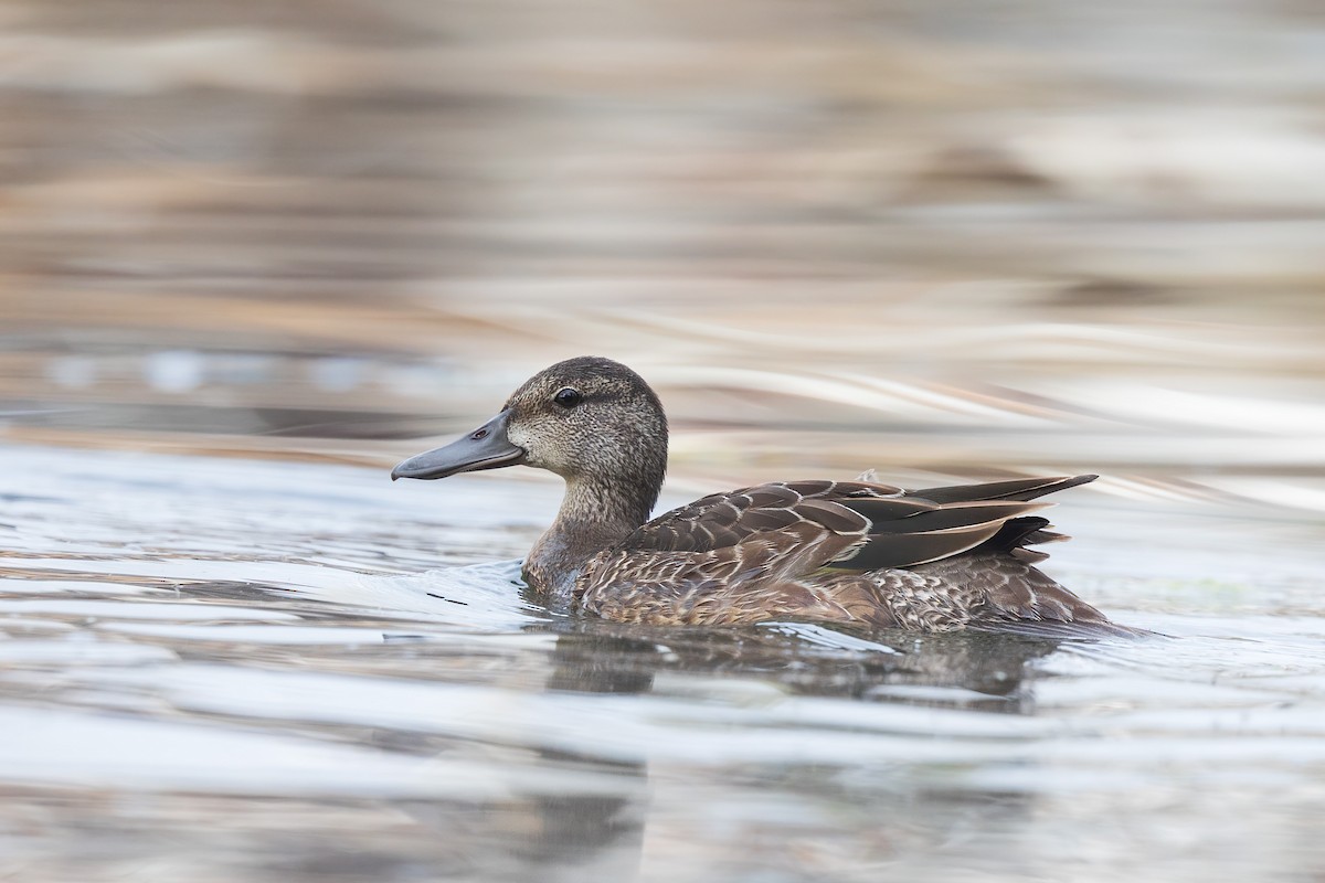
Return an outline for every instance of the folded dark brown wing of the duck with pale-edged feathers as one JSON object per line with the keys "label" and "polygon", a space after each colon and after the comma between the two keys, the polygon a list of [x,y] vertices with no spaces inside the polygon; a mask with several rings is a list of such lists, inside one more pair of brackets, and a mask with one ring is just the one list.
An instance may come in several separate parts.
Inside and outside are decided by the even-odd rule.
{"label": "folded dark brown wing of the duck with pale-edged feathers", "polygon": [[1040,508],[1008,499],[935,502],[873,482],[774,482],[682,506],[616,548],[708,555],[739,571],[776,567],[784,577],[904,568],[973,549]]}

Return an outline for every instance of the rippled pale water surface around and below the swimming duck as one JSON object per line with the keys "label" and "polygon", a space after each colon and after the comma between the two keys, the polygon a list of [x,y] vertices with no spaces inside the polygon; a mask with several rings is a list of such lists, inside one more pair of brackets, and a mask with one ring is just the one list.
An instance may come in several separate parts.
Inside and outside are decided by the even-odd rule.
{"label": "rippled pale water surface around and below the swimming duck", "polygon": [[16,879],[1302,879],[1325,859],[1310,518],[1261,518],[1248,548],[1227,510],[1073,491],[1053,572],[1170,639],[640,629],[521,597],[553,483],[4,455]]}

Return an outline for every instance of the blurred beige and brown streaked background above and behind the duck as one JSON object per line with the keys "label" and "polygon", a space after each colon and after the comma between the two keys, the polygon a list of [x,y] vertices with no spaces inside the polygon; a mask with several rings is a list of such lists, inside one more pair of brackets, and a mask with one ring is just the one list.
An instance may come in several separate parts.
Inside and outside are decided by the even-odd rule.
{"label": "blurred beige and brown streaked background above and behind the duck", "polygon": [[0,438],[388,465],[574,355],[673,477],[1325,508],[1318,4],[0,3]]}

